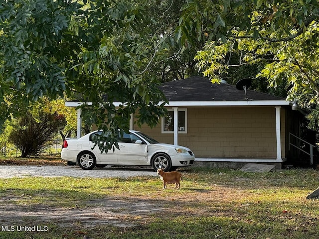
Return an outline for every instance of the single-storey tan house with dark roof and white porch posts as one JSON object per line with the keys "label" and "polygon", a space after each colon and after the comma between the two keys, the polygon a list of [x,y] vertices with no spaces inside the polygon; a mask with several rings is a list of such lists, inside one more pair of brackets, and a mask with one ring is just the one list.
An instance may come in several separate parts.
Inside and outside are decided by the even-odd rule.
{"label": "single-storey tan house with dark roof and white porch posts", "polygon": [[286,161],[289,133],[296,125],[286,99],[249,89],[246,97],[232,85],[212,84],[198,76],[163,83],[160,89],[168,100],[168,115],[155,128],[132,123],[131,129],[189,147],[197,164],[238,168],[263,163],[281,168]]}

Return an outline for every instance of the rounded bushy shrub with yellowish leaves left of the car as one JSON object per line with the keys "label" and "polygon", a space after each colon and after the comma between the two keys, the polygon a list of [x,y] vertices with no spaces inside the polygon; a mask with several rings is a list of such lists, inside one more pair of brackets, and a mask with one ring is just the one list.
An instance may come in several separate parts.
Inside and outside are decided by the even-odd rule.
{"label": "rounded bushy shrub with yellowish leaves left of the car", "polygon": [[76,133],[77,114],[74,108],[64,105],[64,100],[39,99],[28,107],[26,114],[6,120],[0,134],[0,145],[15,144],[22,157],[36,155],[43,146],[59,133],[64,140]]}

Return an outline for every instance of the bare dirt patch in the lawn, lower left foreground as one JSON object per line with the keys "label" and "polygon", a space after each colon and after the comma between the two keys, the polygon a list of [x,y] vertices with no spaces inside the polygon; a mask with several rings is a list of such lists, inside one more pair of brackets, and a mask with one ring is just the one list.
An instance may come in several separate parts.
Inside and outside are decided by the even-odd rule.
{"label": "bare dirt patch in the lawn, lower left foreground", "polygon": [[[11,198],[12,200],[12,198]],[[162,210],[156,202],[142,200],[99,199],[85,208],[56,208],[46,205],[15,205],[0,200],[0,225],[28,227],[54,224],[59,227],[91,228],[97,225],[135,227],[134,219]]]}

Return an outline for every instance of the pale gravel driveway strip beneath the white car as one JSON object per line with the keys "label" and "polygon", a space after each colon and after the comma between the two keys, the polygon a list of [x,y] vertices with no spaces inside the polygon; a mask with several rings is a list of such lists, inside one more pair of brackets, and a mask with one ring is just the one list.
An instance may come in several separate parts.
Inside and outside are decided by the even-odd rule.
{"label": "pale gravel driveway strip beneath the white car", "polygon": [[157,176],[150,168],[94,168],[83,170],[78,166],[0,166],[0,178],[13,177],[95,177],[128,178],[135,176]]}

